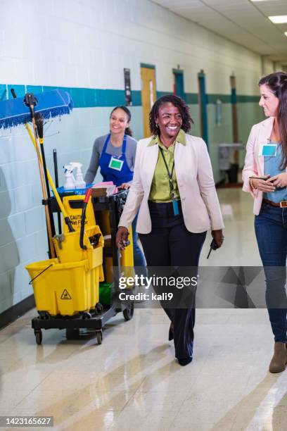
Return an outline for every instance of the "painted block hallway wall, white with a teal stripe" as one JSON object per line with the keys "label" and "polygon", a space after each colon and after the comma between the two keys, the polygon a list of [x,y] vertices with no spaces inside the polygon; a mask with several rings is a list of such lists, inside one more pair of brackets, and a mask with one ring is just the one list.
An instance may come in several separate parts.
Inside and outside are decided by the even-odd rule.
{"label": "painted block hallway wall, white with a teal stripe", "polygon": [[[155,65],[158,92],[172,92],[172,68],[179,65],[186,93],[198,93],[201,69],[208,94],[230,95],[232,73],[237,94],[258,93],[260,56],[149,0],[2,0],[0,29],[0,100],[11,97],[8,86],[17,85],[23,93],[66,87],[83,96],[71,115],[45,125],[51,173],[54,148],[60,168],[70,161],[81,161],[87,168],[94,139],[108,131],[109,113],[119,94],[125,100],[123,68],[130,68],[132,90],[138,93],[140,63]],[[87,101],[84,89],[108,89],[110,105],[101,98]],[[193,134],[200,135],[198,105],[190,107],[196,121]],[[246,107],[239,110],[244,138],[249,128]],[[132,129],[139,139],[141,103],[131,110]],[[210,104],[208,112],[210,154],[218,179],[217,144],[231,140],[230,104],[223,106],[219,127],[215,106]],[[250,104],[250,122],[259,115],[257,104]],[[0,313],[32,293],[25,264],[46,258],[41,200],[37,159],[25,127],[0,130]]]}

